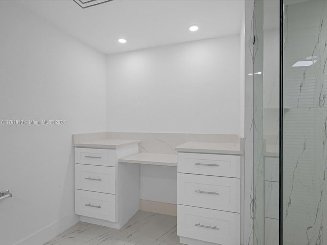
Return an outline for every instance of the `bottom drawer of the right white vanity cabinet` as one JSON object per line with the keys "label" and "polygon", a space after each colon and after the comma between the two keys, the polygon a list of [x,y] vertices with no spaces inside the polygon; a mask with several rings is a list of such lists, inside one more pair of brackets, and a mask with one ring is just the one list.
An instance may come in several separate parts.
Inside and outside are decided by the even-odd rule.
{"label": "bottom drawer of the right white vanity cabinet", "polygon": [[177,235],[215,244],[240,245],[240,214],[177,205]]}

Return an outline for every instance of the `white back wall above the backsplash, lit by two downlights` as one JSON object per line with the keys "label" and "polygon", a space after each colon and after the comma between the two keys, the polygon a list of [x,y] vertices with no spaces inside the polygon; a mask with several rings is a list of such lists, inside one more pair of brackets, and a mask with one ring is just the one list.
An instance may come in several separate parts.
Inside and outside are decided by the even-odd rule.
{"label": "white back wall above the backsplash, lit by two downlights", "polygon": [[240,134],[240,125],[239,35],[107,56],[108,131]]}

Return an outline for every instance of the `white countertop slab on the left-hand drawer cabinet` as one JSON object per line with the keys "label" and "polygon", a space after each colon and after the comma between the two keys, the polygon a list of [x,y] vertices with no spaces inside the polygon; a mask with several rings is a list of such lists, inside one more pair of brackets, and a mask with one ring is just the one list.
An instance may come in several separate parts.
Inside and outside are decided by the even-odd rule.
{"label": "white countertop slab on the left-hand drawer cabinet", "polygon": [[127,140],[127,139],[99,139],[99,140],[85,140],[73,143],[76,147],[86,148],[105,148],[117,149],[121,146],[139,143],[141,140]]}

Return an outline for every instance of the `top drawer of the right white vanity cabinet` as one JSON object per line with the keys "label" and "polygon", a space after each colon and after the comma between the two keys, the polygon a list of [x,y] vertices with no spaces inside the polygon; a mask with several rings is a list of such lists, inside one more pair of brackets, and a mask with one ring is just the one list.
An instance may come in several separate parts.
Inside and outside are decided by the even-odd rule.
{"label": "top drawer of the right white vanity cabinet", "polygon": [[240,178],[240,156],[178,153],[178,172]]}

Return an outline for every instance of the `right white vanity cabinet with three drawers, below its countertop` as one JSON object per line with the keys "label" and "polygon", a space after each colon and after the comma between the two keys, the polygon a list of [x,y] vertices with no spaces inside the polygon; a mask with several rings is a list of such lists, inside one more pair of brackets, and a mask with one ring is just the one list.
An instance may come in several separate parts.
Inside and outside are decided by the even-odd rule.
{"label": "right white vanity cabinet with three drawers, below its countertop", "polygon": [[238,155],[178,152],[180,243],[240,244],[240,161]]}

